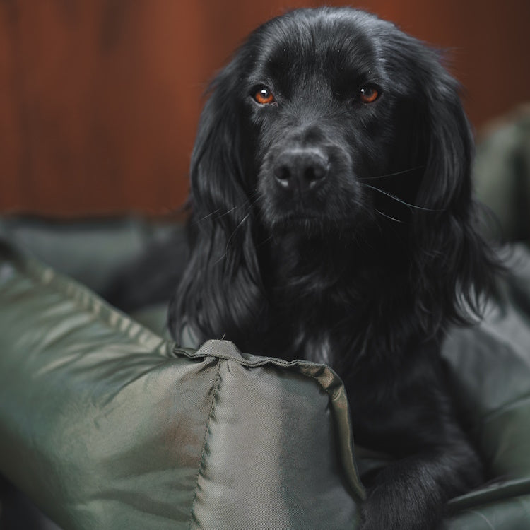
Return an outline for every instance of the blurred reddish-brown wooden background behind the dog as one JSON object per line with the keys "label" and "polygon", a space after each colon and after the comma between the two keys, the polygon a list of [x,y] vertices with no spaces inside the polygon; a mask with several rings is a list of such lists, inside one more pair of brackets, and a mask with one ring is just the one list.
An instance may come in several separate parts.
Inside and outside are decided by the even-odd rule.
{"label": "blurred reddish-brown wooden background behind the dog", "polygon": [[[173,211],[208,79],[256,25],[318,4],[0,0],[0,211]],[[530,99],[529,0],[357,6],[449,49],[476,129]]]}

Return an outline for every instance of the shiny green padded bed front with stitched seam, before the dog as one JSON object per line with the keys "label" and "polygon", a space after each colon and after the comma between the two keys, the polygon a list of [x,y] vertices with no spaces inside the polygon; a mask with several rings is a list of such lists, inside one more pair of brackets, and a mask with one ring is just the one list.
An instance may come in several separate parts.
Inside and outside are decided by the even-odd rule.
{"label": "shiny green padded bed front with stitched seam, before the dog", "polygon": [[179,350],[33,261],[0,278],[0,469],[64,529],[353,524],[329,368]]}

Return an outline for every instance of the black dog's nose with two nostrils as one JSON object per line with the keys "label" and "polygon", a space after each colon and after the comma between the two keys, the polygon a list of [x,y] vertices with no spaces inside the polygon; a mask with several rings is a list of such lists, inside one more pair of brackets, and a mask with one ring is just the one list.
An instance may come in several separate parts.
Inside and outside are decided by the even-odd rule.
{"label": "black dog's nose with two nostrils", "polygon": [[322,184],[328,174],[329,160],[316,148],[289,149],[276,159],[274,177],[286,190],[305,192]]}

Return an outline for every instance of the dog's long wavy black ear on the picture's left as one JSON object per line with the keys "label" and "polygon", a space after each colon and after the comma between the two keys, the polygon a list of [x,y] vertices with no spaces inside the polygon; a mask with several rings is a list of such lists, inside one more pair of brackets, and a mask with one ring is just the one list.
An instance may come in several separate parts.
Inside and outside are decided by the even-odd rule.
{"label": "dog's long wavy black ear on the picture's left", "polygon": [[[190,167],[189,259],[170,304],[177,341],[230,338],[259,314],[261,277],[254,243],[249,160],[242,158],[238,59],[210,86]],[[230,297],[230,298],[229,298]]]}

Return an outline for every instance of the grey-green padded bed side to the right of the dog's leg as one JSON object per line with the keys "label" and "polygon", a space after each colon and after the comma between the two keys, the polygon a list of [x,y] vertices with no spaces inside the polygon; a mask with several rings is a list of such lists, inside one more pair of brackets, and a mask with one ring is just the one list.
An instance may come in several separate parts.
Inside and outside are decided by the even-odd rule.
{"label": "grey-green padded bed side to the right of the dog's leg", "polygon": [[[444,355],[471,410],[490,475],[530,477],[530,252],[513,247],[502,305],[477,326],[454,329]],[[530,526],[529,526],[530,527]]]}

